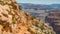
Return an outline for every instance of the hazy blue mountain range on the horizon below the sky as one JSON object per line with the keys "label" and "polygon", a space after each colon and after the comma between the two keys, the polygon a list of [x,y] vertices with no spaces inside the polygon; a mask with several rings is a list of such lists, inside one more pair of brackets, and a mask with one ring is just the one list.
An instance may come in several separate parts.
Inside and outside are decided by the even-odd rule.
{"label": "hazy blue mountain range on the horizon below the sky", "polygon": [[51,10],[60,9],[60,4],[31,4],[31,3],[19,3],[23,9],[35,9],[35,10]]}

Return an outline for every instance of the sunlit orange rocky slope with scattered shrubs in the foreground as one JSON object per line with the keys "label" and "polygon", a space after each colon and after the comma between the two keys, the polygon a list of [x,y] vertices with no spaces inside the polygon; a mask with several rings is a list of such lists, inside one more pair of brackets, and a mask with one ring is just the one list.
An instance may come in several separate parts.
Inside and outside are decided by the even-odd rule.
{"label": "sunlit orange rocky slope with scattered shrubs in the foreground", "polygon": [[55,34],[53,29],[29,13],[15,0],[0,0],[0,34]]}

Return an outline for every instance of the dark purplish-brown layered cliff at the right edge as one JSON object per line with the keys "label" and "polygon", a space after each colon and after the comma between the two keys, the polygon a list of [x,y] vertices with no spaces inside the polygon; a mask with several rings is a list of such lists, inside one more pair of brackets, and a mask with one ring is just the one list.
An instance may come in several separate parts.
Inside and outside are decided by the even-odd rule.
{"label": "dark purplish-brown layered cliff at the right edge", "polygon": [[60,34],[60,9],[51,10],[46,17],[46,22],[50,23],[57,34]]}

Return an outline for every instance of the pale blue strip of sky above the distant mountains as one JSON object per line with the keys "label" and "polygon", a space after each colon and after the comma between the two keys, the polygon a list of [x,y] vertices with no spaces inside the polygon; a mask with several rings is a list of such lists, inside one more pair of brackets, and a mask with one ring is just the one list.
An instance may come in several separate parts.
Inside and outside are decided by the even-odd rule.
{"label": "pale blue strip of sky above the distant mountains", "polygon": [[17,0],[18,3],[60,4],[60,0]]}

